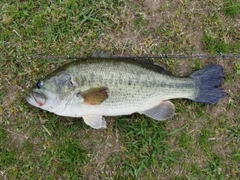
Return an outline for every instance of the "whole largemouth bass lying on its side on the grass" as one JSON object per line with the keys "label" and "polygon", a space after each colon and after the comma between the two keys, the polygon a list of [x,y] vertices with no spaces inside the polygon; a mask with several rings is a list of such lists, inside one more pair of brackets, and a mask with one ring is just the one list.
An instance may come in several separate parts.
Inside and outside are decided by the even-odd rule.
{"label": "whole largemouth bass lying on its side on the grass", "polygon": [[107,127],[103,116],[140,113],[158,121],[172,118],[175,106],[170,99],[215,104],[226,95],[223,77],[218,64],[177,77],[146,60],[82,58],[40,79],[26,100],[59,116],[82,117],[100,129]]}

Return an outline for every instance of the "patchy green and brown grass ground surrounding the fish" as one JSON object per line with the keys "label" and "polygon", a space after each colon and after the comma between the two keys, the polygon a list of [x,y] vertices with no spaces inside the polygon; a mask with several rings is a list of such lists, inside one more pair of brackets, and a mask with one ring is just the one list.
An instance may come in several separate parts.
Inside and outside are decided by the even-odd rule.
{"label": "patchy green and brown grass ground surrounding the fish", "polygon": [[174,75],[224,67],[228,95],[216,105],[172,100],[176,115],[107,117],[94,130],[27,104],[38,79],[67,62],[36,55],[240,52],[239,2],[0,2],[0,179],[237,179],[236,58],[154,59]]}

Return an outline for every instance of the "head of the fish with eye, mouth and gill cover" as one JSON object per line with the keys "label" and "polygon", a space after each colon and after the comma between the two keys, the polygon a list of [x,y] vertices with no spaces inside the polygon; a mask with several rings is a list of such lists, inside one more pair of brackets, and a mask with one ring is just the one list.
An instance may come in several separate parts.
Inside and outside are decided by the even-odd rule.
{"label": "head of the fish with eye, mouth and gill cover", "polygon": [[76,88],[67,71],[54,72],[39,80],[26,100],[29,104],[50,112],[62,112],[71,100]]}

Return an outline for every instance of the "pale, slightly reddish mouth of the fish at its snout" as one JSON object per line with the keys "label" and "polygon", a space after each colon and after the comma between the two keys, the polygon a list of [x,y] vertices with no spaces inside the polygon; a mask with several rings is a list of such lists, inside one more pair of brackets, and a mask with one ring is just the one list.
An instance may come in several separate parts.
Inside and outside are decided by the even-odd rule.
{"label": "pale, slightly reddish mouth of the fish at its snout", "polygon": [[43,106],[46,103],[45,95],[39,92],[31,92],[29,96],[26,97],[26,100],[29,104],[37,107]]}

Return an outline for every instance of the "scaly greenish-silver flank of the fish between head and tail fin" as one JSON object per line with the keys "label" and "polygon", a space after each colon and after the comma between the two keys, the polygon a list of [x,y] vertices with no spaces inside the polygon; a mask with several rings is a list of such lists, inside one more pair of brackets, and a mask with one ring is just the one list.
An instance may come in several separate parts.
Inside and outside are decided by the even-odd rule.
{"label": "scaly greenish-silver flank of the fish between head and tail fin", "polygon": [[143,103],[152,103],[152,99],[159,103],[169,98],[191,97],[195,93],[190,78],[169,77],[121,61],[117,66],[116,62],[79,64],[67,71],[73,72],[72,76],[77,79],[81,77],[78,79],[81,91],[96,86],[108,87],[109,98],[99,106],[100,109],[142,106]]}

